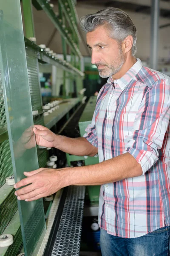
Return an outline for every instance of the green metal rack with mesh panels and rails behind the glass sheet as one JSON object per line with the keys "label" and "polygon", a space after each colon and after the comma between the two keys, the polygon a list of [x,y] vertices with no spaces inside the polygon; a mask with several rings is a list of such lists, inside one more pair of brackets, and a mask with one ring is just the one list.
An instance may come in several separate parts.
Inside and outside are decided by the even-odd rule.
{"label": "green metal rack with mesh panels and rails behind the glass sheet", "polygon": [[[63,3],[64,5],[63,5]],[[72,108],[75,108],[79,104],[79,99],[71,101],[71,105],[68,105],[66,110],[63,110],[56,118],[51,116],[48,122],[44,122],[42,111],[42,99],[40,94],[40,81],[38,62],[48,63],[62,68],[65,72],[71,74],[71,79],[79,77],[83,79],[84,73],[81,72],[80,60],[82,58],[79,52],[80,35],[77,29],[77,15],[75,13],[74,2],[71,0],[59,2],[60,18],[55,15],[52,6],[45,0],[32,0],[33,5],[37,9],[43,9],[45,14],[51,19],[54,26],[59,30],[63,38],[63,54],[64,60],[57,58],[56,55],[46,52],[45,49],[39,47],[35,42],[31,41],[34,38],[34,22],[32,19],[31,0],[23,0],[23,11],[26,29],[25,47],[26,47],[26,59],[28,67],[28,79],[30,87],[30,97],[32,111],[38,110],[38,117],[34,118],[34,124],[47,125],[51,128],[62,116],[66,115]],[[69,10],[68,10],[69,9]],[[62,17],[61,17],[62,15]],[[65,19],[68,24],[65,24]],[[30,39],[28,39],[30,38]],[[68,44],[72,52],[72,61],[68,63],[66,60],[65,44]],[[77,56],[79,59],[76,62]],[[64,73],[64,76],[66,73]],[[10,105],[10,103],[9,103]],[[10,107],[8,107],[10,116]],[[59,113],[55,113],[59,114]],[[49,116],[50,117],[50,116]],[[11,116],[12,120],[12,116]],[[45,167],[48,159],[48,151],[40,150],[37,148],[37,155],[39,161],[39,167]],[[3,97],[3,87],[0,73],[0,235],[2,233],[11,233],[14,237],[14,243],[5,248],[0,249],[0,255],[2,256],[17,256],[22,246],[22,234],[20,226],[20,218],[17,206],[17,198],[14,195],[13,186],[7,186],[5,179],[13,174],[11,163],[11,149],[8,140],[8,130],[6,122],[5,103]]]}

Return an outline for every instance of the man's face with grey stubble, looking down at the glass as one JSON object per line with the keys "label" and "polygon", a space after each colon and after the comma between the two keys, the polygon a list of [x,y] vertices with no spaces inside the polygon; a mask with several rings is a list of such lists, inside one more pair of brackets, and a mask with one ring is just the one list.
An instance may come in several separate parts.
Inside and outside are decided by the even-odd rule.
{"label": "man's face with grey stubble, looking down at the glass", "polygon": [[88,32],[86,38],[92,52],[91,63],[96,64],[99,75],[106,78],[118,73],[125,63],[125,57],[121,45],[109,37],[105,26]]}

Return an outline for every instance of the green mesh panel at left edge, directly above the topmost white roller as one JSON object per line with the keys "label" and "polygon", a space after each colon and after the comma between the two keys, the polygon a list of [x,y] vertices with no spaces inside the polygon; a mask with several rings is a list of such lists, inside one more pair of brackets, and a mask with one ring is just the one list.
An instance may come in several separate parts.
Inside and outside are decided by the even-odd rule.
{"label": "green mesh panel at left edge, directly above the topmost white roller", "polygon": [[13,174],[9,140],[0,143],[0,187],[6,182],[6,177]]}

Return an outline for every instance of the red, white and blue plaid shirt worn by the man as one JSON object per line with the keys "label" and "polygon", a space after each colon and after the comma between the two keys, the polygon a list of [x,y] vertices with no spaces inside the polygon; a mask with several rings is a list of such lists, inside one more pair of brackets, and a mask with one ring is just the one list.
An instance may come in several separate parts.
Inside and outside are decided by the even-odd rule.
{"label": "red, white and blue plaid shirt worn by the man", "polygon": [[126,152],[143,175],[101,186],[99,225],[124,238],[170,226],[170,78],[139,59],[101,88],[84,137],[99,162]]}

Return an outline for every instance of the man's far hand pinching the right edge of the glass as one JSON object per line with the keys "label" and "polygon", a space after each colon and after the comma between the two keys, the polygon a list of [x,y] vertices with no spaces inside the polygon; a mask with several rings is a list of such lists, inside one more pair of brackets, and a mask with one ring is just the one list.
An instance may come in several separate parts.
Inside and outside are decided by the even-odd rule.
{"label": "man's far hand pinching the right edge of the glass", "polygon": [[56,135],[52,131],[42,125],[34,125],[33,131],[37,145],[50,148],[54,147]]}

